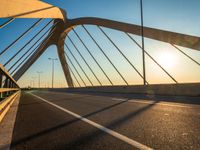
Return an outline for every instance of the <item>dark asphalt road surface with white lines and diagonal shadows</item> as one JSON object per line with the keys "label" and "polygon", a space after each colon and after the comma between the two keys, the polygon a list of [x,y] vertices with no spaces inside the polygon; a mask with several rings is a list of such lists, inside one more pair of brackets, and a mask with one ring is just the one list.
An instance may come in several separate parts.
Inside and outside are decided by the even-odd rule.
{"label": "dark asphalt road surface with white lines and diagonal shadows", "polygon": [[200,149],[199,104],[29,92],[19,102],[12,150]]}

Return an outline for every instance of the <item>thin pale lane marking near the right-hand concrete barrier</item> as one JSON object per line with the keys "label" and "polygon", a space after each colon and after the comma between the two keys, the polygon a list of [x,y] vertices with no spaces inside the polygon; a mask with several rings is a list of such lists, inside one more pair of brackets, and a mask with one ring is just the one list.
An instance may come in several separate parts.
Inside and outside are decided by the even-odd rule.
{"label": "thin pale lane marking near the right-hand concrete barrier", "polygon": [[[145,100],[135,100],[135,99],[120,99],[120,98],[112,98],[112,100],[115,101],[127,101],[127,102],[132,102],[132,103],[141,103],[141,104],[153,104],[156,101],[145,101]],[[158,101],[158,103],[156,103],[156,105],[162,105],[162,106],[172,106],[172,107],[182,107],[182,108],[194,108],[196,105],[192,106],[188,106],[188,105],[180,105],[180,104],[169,104],[169,103],[165,103],[163,101]],[[198,106],[196,106],[198,107]]]}

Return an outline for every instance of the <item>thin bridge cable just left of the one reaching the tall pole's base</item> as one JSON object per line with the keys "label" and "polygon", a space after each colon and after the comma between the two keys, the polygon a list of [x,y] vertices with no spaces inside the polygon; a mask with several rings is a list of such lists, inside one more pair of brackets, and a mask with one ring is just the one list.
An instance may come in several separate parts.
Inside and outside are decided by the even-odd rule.
{"label": "thin bridge cable just left of the one reaching the tall pole's base", "polygon": [[[82,25],[84,28],[85,26]],[[86,29],[86,28],[85,28]],[[87,29],[86,29],[87,30]],[[87,30],[88,31],[88,30]],[[110,62],[110,64],[113,66],[113,68],[117,71],[117,73],[120,75],[120,77],[122,78],[122,80],[126,83],[126,85],[128,85],[128,82],[125,80],[125,78],[122,76],[122,74],[119,72],[119,70],[116,68],[116,66],[113,64],[113,62],[109,59],[109,57],[106,55],[106,53],[103,51],[103,49],[100,47],[100,45],[97,43],[97,41],[94,39],[94,37],[89,33],[89,36],[92,38],[92,40],[94,41],[94,43],[96,44],[96,46],[99,48],[99,50],[104,54],[104,56],[107,58],[107,60]]]}

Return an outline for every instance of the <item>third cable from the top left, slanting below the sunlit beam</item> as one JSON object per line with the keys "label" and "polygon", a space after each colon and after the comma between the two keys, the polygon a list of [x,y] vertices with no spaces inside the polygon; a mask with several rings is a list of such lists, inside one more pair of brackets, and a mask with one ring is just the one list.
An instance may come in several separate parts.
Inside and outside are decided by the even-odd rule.
{"label": "third cable from the top left, slanting below the sunlit beam", "polygon": [[48,22],[39,32],[37,32],[35,34],[35,36],[33,36],[17,53],[15,53],[5,64],[4,67],[9,64],[28,44],[30,44],[35,37],[37,37],[53,20],[51,20],[50,22]]}

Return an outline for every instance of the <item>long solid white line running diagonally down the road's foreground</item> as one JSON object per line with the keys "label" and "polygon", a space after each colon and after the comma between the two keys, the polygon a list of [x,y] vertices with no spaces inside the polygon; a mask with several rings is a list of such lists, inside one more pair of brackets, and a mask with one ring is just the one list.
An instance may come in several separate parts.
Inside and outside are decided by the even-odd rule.
{"label": "long solid white line running diagonally down the road's foreground", "polygon": [[98,123],[96,123],[94,121],[91,121],[91,120],[89,120],[87,118],[84,118],[84,117],[82,117],[82,116],[80,116],[80,115],[78,115],[78,114],[76,114],[76,113],[74,113],[74,112],[72,112],[70,110],[67,110],[67,109],[65,109],[65,108],[63,108],[61,106],[58,106],[58,105],[56,105],[56,104],[54,104],[52,102],[49,102],[48,100],[45,100],[42,97],[39,97],[39,96],[37,96],[37,95],[35,95],[33,93],[29,93],[29,94],[31,94],[32,96],[37,97],[38,99],[40,99],[40,100],[42,100],[42,101],[44,101],[44,102],[46,102],[46,103],[48,103],[48,104],[50,104],[50,105],[52,105],[52,106],[54,106],[56,108],[58,108],[58,109],[60,109],[60,110],[62,110],[64,112],[66,112],[66,113],[68,113],[68,114],[70,114],[70,115],[72,115],[72,116],[74,116],[74,117],[76,117],[76,118],[78,118],[78,119],[80,119],[80,120],[82,120],[82,121],[84,121],[84,122],[86,122],[86,123],[98,128],[98,129],[102,130],[103,132],[105,132],[105,133],[107,133],[109,135],[112,135],[115,138],[120,139],[120,140],[122,140],[122,141],[124,141],[124,142],[126,142],[126,143],[128,143],[128,144],[130,144],[132,146],[134,146],[134,147],[137,147],[137,148],[139,148],[141,150],[152,150],[152,148],[150,148],[150,147],[148,147],[146,145],[143,145],[143,144],[141,144],[141,143],[139,143],[139,142],[137,142],[137,141],[135,141],[133,139],[130,139],[127,136],[124,136],[124,135],[122,135],[120,133],[117,133],[117,132],[115,132],[115,131],[113,131],[111,129],[108,129],[108,128],[106,128],[106,127],[104,127],[104,126],[102,126],[102,125],[100,125],[100,124],[98,124]]}

